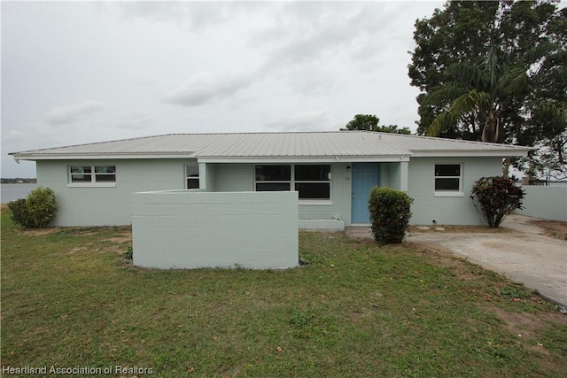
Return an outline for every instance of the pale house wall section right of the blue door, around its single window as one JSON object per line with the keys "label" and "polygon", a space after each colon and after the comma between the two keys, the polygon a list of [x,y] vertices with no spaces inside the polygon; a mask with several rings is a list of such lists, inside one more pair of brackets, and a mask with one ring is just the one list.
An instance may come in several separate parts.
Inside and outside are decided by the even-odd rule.
{"label": "pale house wall section right of the blue door, around its single window", "polygon": [[[462,164],[462,197],[435,197],[435,164]],[[411,158],[408,195],[413,225],[482,225],[484,220],[470,200],[470,190],[481,177],[501,176],[502,158]]]}

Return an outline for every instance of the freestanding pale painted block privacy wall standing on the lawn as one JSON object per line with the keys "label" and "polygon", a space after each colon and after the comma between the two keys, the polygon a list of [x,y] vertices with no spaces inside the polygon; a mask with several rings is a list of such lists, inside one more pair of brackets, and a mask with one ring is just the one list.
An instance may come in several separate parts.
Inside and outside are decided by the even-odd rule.
{"label": "freestanding pale painted block privacy wall standing on the lawn", "polygon": [[135,193],[134,265],[298,266],[298,193],[170,190]]}

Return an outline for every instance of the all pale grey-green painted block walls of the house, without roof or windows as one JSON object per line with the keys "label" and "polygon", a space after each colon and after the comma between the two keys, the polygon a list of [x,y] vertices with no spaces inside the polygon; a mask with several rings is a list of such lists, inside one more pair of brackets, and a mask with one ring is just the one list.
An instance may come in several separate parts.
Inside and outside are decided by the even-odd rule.
{"label": "all pale grey-green painted block walls of the house, without roof or windows", "polygon": [[[185,188],[184,166],[196,159],[101,159],[43,160],[37,162],[39,185],[55,190],[57,218],[52,226],[104,226],[131,224],[131,197],[135,192]],[[462,197],[434,196],[434,166],[462,164]],[[68,166],[116,166],[115,188],[69,188]],[[340,219],[351,225],[351,172],[348,162],[332,163],[330,204],[299,204],[299,220]],[[254,164],[200,164],[202,189],[206,191],[253,191]],[[400,189],[400,163],[381,164],[381,185]],[[408,194],[414,198],[412,224],[482,224],[470,201],[470,189],[478,178],[501,175],[501,158],[411,158]],[[205,188],[203,188],[205,187]]]}

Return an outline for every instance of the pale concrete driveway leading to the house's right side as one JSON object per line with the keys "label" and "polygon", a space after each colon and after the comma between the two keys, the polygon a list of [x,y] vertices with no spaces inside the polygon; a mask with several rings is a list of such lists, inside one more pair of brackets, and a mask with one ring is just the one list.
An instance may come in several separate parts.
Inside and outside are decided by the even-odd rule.
{"label": "pale concrete driveway leading to the house's right side", "polygon": [[[505,233],[423,232],[412,233],[406,240],[439,245],[567,305],[567,241],[543,235],[531,220],[511,215],[501,225],[511,230]],[[373,239],[369,228],[346,228],[346,235]]]}

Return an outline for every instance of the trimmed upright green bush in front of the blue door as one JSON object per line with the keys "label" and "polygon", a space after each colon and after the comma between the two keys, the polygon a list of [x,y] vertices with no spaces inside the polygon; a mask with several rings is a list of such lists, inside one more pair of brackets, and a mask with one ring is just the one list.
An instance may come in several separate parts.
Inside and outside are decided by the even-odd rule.
{"label": "trimmed upright green bush in front of the blue door", "polygon": [[369,211],[372,234],[380,244],[401,243],[411,218],[414,202],[404,191],[374,187],[370,190]]}

